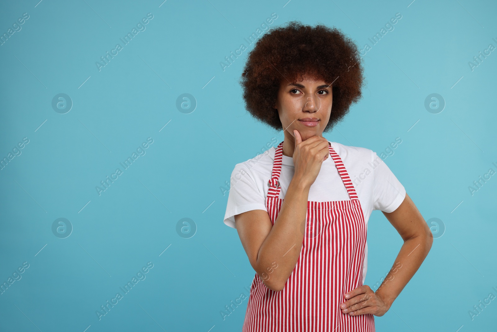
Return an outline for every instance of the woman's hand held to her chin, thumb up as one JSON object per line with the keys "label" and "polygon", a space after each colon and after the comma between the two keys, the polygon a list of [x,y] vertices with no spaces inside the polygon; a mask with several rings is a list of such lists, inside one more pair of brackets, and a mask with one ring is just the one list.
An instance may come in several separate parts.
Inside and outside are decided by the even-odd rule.
{"label": "woman's hand held to her chin, thumb up", "polygon": [[297,129],[295,134],[295,149],[293,151],[294,177],[300,177],[304,184],[311,187],[316,181],[323,161],[330,156],[328,140],[322,136],[312,136],[302,141]]}

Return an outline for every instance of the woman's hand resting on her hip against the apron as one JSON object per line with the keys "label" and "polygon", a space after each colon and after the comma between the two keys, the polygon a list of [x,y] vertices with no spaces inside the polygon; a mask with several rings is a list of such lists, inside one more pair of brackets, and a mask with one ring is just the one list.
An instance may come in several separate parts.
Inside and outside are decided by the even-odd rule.
{"label": "woman's hand resting on her hip against the apron", "polygon": [[383,298],[373,292],[368,285],[359,286],[348,293],[347,301],[340,304],[342,313],[357,316],[364,314],[373,314],[375,316],[383,316],[390,309]]}

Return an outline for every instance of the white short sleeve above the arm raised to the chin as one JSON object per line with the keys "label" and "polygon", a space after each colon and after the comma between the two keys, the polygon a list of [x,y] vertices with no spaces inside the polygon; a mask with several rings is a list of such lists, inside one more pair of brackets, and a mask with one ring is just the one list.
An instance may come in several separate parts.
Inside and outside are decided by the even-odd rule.
{"label": "white short sleeve above the arm raised to the chin", "polygon": [[264,193],[257,188],[247,168],[243,163],[240,163],[235,166],[235,169],[231,173],[230,193],[228,195],[224,223],[230,227],[237,228],[235,225],[235,215],[251,210],[267,211]]}

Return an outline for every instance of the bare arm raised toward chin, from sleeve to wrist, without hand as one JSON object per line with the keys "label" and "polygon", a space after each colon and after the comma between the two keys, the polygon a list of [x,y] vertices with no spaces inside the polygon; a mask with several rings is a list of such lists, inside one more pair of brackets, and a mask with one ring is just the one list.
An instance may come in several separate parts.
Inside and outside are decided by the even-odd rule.
{"label": "bare arm raised toward chin, from sleeve to wrist, without hand", "polygon": [[235,215],[250,265],[273,291],[283,289],[297,264],[304,239],[309,189],[299,176],[292,178],[274,225],[264,210]]}

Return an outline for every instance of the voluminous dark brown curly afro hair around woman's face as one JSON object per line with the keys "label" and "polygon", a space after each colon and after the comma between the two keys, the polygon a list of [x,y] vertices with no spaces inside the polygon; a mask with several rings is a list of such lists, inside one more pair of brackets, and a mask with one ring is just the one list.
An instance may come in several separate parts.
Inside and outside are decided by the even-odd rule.
{"label": "voluminous dark brown curly afro hair around woman's face", "polygon": [[335,27],[291,21],[271,28],[248,53],[240,80],[246,109],[257,120],[283,129],[273,108],[280,82],[296,82],[303,75],[331,83],[333,106],[323,132],[330,131],[362,97],[363,67],[357,45]]}

